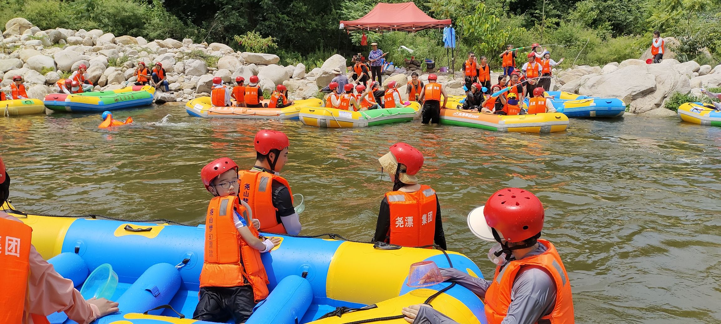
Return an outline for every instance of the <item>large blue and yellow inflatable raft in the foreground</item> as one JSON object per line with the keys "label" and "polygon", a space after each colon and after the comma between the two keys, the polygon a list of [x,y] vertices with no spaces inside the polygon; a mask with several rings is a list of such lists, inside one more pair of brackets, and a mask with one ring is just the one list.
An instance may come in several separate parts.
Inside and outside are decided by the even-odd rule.
{"label": "large blue and yellow inflatable raft in the foreground", "polygon": [[[205,225],[11,215],[32,227],[37,251],[77,288],[94,269],[102,264],[112,266],[118,286],[110,299],[120,303],[120,312],[94,323],[209,323],[188,319],[198,303]],[[434,294],[437,297],[430,305],[457,322],[487,323],[482,301],[464,287],[454,285],[439,293],[450,284],[423,288],[405,284],[410,265],[425,260],[439,267],[451,262],[456,269],[481,276],[478,266],[460,253],[424,248],[384,250],[370,243],[281,237],[280,246],[262,253],[271,292],[247,324],[337,324],[383,318],[401,315],[402,307],[423,303]],[[337,307],[366,306],[367,310],[342,317],[319,319]],[[156,307],[160,308],[154,310]],[[48,319],[71,323],[62,313]],[[406,322],[397,318],[382,323]]]}

